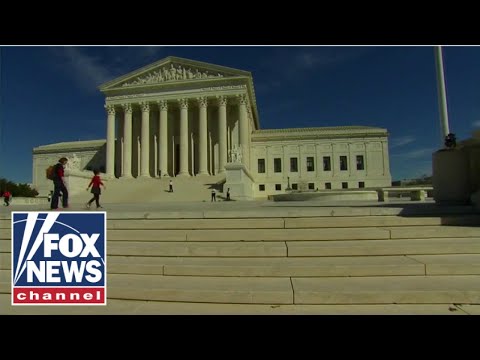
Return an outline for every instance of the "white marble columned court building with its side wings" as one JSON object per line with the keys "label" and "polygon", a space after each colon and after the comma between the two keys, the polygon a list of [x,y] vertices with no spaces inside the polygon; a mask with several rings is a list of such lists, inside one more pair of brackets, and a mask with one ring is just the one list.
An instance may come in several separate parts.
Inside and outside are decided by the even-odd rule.
{"label": "white marble columned court building with its side wings", "polygon": [[99,87],[106,140],[33,149],[33,183],[67,156],[73,172],[104,178],[225,176],[243,198],[292,189],[390,186],[386,129],[260,129],[252,74],[167,57]]}

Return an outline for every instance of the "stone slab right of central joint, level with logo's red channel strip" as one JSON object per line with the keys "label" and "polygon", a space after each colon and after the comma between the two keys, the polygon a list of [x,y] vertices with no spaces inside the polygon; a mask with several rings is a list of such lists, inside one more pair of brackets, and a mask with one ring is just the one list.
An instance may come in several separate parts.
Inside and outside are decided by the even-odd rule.
{"label": "stone slab right of central joint, level with logo's red channel strip", "polygon": [[295,304],[475,304],[480,276],[292,278]]}

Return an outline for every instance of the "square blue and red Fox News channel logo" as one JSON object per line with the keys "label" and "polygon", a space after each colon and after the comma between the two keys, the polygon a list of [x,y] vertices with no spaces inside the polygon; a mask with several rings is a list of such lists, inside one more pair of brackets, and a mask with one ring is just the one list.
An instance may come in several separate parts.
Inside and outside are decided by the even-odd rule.
{"label": "square blue and red Fox News channel logo", "polygon": [[105,212],[12,212],[12,305],[106,305]]}

